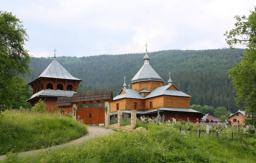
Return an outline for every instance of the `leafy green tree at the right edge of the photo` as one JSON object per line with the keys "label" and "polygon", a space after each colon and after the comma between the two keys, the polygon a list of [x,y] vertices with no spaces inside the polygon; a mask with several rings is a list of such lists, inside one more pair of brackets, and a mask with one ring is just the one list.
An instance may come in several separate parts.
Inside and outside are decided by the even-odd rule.
{"label": "leafy green tree at the right edge of the photo", "polygon": [[243,102],[246,107],[246,122],[256,125],[256,7],[250,15],[236,16],[236,28],[224,35],[230,47],[246,45],[241,62],[228,71],[236,89],[236,102]]}

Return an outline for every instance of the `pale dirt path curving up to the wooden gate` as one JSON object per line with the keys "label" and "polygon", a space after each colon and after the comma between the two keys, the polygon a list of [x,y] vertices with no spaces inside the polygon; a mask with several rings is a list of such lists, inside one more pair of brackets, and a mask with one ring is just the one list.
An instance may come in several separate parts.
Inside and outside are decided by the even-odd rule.
{"label": "pale dirt path curving up to the wooden gate", "polygon": [[[78,138],[74,141],[70,141],[68,143],[64,143],[64,144],[60,144],[60,145],[56,145],[56,146],[51,146],[51,147],[45,148],[45,149],[38,149],[38,150],[33,150],[33,151],[20,152],[19,155],[20,156],[26,156],[26,155],[30,155],[30,154],[35,154],[39,150],[47,151],[49,149],[59,148],[59,147],[67,146],[67,145],[74,144],[74,143],[80,143],[80,142],[83,142],[84,140],[89,139],[89,138],[95,138],[95,137],[100,136],[100,135],[113,134],[115,132],[112,129],[106,129],[105,127],[100,127],[100,126],[87,126],[87,128],[88,128],[88,134],[86,134],[86,135],[82,136],[81,138]],[[6,155],[1,155],[0,160],[3,160],[5,157],[6,157]]]}

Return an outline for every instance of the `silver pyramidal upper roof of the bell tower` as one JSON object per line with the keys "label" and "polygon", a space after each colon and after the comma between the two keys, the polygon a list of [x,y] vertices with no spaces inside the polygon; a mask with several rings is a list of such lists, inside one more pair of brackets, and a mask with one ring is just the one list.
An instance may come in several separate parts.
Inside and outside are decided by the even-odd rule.
{"label": "silver pyramidal upper roof of the bell tower", "polygon": [[44,70],[38,77],[58,78],[58,79],[71,79],[81,80],[72,76],[59,62],[53,60],[52,63]]}

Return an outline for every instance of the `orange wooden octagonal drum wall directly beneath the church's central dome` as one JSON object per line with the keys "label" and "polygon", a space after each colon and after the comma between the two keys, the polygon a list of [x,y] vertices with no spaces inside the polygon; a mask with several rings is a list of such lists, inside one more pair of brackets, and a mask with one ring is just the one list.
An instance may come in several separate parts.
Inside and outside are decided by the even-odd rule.
{"label": "orange wooden octagonal drum wall directly beneath the church's central dome", "polygon": [[141,90],[144,90],[143,87],[146,85],[146,90],[153,91],[157,87],[162,87],[163,83],[159,81],[145,81],[145,82],[135,82],[132,83],[132,89],[137,90],[140,92]]}

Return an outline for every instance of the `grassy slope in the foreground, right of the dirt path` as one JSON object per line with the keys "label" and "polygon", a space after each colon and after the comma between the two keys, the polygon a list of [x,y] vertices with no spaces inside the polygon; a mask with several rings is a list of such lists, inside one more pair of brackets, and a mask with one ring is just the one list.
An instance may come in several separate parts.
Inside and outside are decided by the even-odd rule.
{"label": "grassy slope in the foreground, right of the dirt path", "polygon": [[256,140],[198,138],[175,126],[146,124],[150,133],[121,132],[3,163],[255,163]]}

